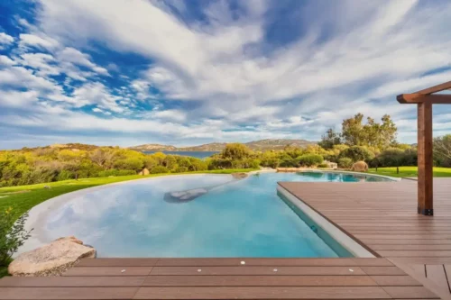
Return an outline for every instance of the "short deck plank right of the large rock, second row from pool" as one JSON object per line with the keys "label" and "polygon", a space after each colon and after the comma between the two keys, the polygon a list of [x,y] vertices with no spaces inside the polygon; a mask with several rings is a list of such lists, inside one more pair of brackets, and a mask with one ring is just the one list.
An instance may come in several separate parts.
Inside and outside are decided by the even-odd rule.
{"label": "short deck plank right of the large rock, second row from pool", "polygon": [[151,273],[153,267],[77,267],[63,276],[140,276]]}

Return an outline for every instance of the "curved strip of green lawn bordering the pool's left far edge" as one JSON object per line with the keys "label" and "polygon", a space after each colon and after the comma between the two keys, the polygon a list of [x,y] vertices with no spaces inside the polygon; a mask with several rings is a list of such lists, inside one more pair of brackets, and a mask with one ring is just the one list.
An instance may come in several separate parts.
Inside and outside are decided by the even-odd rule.
{"label": "curved strip of green lawn bordering the pool's left far edge", "polygon": [[[236,172],[249,172],[256,170],[254,168],[234,168],[234,169],[217,169],[209,171],[196,171],[179,174],[231,174]],[[13,207],[14,214],[19,217],[23,213],[30,210],[33,206],[39,205],[45,200],[63,195],[79,189],[103,186],[115,182],[142,179],[148,177],[170,176],[174,174],[151,174],[147,176],[129,175],[120,177],[94,177],[81,178],[78,180],[64,180],[50,183],[43,183],[30,186],[7,186],[0,188],[0,211],[5,211],[8,207]],[[44,186],[51,186],[51,188],[44,188]]]}

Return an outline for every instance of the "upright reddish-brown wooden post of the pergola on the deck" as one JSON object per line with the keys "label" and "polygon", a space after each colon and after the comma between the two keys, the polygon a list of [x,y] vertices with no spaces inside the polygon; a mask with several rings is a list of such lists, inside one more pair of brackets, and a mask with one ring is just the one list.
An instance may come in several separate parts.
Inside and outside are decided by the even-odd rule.
{"label": "upright reddish-brown wooden post of the pergola on the deck", "polygon": [[432,192],[432,104],[418,105],[419,207],[418,213],[434,215]]}

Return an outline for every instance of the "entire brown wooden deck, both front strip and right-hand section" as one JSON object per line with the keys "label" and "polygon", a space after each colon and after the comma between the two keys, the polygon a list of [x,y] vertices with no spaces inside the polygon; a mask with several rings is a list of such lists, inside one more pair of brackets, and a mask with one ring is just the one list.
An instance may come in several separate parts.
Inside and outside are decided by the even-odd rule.
{"label": "entire brown wooden deck, both front strip and right-hand section", "polygon": [[281,183],[381,258],[84,259],[62,277],[2,278],[0,299],[448,299],[450,184],[437,180],[430,217],[411,180]]}

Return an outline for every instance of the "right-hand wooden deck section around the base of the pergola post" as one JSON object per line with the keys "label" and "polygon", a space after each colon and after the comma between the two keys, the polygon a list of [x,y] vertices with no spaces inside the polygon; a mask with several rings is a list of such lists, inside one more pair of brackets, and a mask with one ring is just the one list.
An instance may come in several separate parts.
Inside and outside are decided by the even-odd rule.
{"label": "right-hand wooden deck section around the base of the pergola post", "polygon": [[434,216],[417,214],[413,180],[280,185],[376,256],[451,298],[450,178],[434,180]]}

